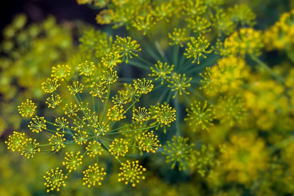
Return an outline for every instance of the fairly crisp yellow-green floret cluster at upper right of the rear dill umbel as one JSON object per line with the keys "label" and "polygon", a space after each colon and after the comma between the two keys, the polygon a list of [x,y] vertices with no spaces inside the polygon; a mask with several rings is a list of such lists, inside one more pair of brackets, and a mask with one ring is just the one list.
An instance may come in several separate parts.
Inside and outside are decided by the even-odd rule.
{"label": "fairly crisp yellow-green floret cluster at upper right of the rear dill umbel", "polygon": [[187,44],[188,48],[186,48],[187,52],[185,52],[184,55],[186,55],[187,58],[194,57],[192,63],[195,63],[197,59],[197,64],[199,64],[199,59],[201,56],[203,56],[203,58],[206,58],[204,54],[209,54],[212,52],[211,49],[207,50],[209,45],[210,43],[208,42],[208,40],[205,39],[204,36],[198,36],[197,40],[195,37],[190,37],[190,42],[188,42]]}

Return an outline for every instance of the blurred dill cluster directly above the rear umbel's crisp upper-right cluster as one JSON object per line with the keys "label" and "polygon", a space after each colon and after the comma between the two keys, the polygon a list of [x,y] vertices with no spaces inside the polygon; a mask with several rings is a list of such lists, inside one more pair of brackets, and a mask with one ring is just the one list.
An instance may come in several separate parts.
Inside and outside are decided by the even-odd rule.
{"label": "blurred dill cluster directly above the rear umbel's crisp upper-right cluster", "polygon": [[198,33],[199,35],[211,31],[211,23],[204,17],[195,16],[186,18],[186,22],[188,23],[187,26],[191,28],[193,32]]}

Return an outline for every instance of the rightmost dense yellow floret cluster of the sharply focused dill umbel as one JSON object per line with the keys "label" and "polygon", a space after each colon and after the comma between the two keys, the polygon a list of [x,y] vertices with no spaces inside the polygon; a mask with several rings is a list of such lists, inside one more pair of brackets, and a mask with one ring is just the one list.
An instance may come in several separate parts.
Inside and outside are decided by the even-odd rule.
{"label": "rightmost dense yellow floret cluster of the sharply focused dill umbel", "polygon": [[167,125],[175,121],[175,109],[169,105],[161,104],[155,107],[155,114],[154,118],[159,123]]}

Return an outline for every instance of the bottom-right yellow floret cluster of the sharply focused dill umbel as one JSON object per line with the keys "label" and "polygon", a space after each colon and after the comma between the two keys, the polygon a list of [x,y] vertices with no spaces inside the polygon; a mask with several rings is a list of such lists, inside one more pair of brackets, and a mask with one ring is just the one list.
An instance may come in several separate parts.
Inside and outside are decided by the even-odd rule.
{"label": "bottom-right yellow floret cluster of the sharply focused dill umbel", "polygon": [[130,162],[129,160],[126,161],[126,163],[122,163],[122,167],[120,170],[122,170],[121,173],[119,173],[119,182],[125,181],[124,184],[128,184],[129,182],[132,184],[133,187],[136,186],[136,183],[139,183],[139,179],[145,179],[145,176],[142,176],[143,172],[146,171],[143,166],[140,166],[139,161],[133,161]]}

